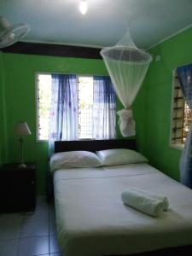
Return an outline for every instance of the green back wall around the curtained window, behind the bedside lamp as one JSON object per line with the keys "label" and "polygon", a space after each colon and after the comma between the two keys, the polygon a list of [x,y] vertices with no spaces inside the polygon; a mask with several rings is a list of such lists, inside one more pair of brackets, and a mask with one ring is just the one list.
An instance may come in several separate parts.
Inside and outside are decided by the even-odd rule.
{"label": "green back wall around the curtained window, behind the bedside lamp", "polygon": [[[1,80],[4,83],[4,87],[1,83],[0,90],[4,88],[3,109],[5,115],[3,124],[1,123],[0,126],[1,130],[3,129],[0,142],[4,140],[3,152],[6,152],[0,160],[3,162],[20,160],[20,145],[15,137],[14,128],[18,121],[26,121],[32,135],[26,137],[24,157],[26,161],[38,163],[38,194],[43,194],[48,148],[47,143],[36,141],[35,74],[39,72],[107,75],[108,72],[102,60],[8,53],[1,53],[0,58],[0,69],[3,75]],[[1,111],[0,115],[2,114]],[[2,125],[4,126],[2,127]],[[7,133],[7,136],[4,132]]]}

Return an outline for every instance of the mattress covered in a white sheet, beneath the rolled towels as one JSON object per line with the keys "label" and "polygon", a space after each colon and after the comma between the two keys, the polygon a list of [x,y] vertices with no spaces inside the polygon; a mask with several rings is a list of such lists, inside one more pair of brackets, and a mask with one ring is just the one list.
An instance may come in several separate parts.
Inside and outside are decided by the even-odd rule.
{"label": "mattress covered in a white sheet, beneath the rolled towels", "polygon": [[[166,195],[159,218],[127,207],[129,187]],[[54,173],[57,236],[66,256],[143,253],[192,244],[192,190],[148,164]]]}

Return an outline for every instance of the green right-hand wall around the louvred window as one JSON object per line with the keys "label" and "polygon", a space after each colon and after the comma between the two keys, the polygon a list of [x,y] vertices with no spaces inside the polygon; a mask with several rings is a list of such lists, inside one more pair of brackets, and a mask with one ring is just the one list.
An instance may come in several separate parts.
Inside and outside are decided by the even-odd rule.
{"label": "green right-hand wall around the louvred window", "polygon": [[[177,34],[164,43],[150,49],[154,57],[143,84],[146,97],[143,117],[143,137],[140,150],[150,164],[171,177],[179,178],[178,163],[181,150],[169,145],[172,108],[172,71],[192,63],[192,28]],[[160,55],[160,61],[155,56]]]}

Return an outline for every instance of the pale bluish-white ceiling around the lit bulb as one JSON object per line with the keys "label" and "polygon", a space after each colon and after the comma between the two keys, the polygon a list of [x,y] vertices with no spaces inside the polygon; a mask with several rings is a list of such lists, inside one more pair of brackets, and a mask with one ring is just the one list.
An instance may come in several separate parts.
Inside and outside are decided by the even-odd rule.
{"label": "pale bluish-white ceiling around the lit bulb", "polygon": [[192,0],[0,0],[0,15],[25,22],[25,42],[102,47],[116,44],[130,27],[138,47],[148,49],[192,25]]}

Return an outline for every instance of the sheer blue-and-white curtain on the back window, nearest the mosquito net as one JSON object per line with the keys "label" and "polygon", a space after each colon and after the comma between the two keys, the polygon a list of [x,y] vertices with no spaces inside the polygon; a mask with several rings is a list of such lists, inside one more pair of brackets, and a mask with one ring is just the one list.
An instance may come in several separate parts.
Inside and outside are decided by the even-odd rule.
{"label": "sheer blue-and-white curtain on the back window, nearest the mosquito net", "polygon": [[109,77],[93,76],[93,138],[115,137],[116,102]]}

